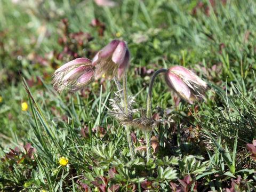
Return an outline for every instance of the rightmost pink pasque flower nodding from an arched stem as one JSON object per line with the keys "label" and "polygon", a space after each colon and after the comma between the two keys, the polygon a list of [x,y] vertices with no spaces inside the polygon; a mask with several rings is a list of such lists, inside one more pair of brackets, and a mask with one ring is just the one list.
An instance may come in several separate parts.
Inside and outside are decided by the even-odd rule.
{"label": "rightmost pink pasque flower nodding from an arched stem", "polygon": [[201,91],[207,88],[207,84],[200,77],[181,66],[167,70],[165,81],[175,93],[191,104],[199,97],[203,97]]}

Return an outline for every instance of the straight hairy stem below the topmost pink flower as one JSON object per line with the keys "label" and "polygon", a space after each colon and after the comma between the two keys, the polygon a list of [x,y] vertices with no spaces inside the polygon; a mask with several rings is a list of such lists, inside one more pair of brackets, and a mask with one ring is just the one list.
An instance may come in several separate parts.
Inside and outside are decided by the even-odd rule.
{"label": "straight hairy stem below the topmost pink flower", "polygon": [[[127,115],[128,113],[128,103],[127,103],[127,74],[125,73],[125,75],[123,76],[123,102],[124,102],[124,113]],[[128,143],[129,143],[129,148],[130,148],[130,151],[131,151],[131,157],[132,159],[135,158],[135,152],[134,152],[134,146],[133,146],[133,143],[132,143],[132,134],[131,134],[131,129],[130,129],[130,126],[129,125],[126,125],[125,126],[125,129],[126,129],[126,136],[127,136],[127,140],[128,140]]]}

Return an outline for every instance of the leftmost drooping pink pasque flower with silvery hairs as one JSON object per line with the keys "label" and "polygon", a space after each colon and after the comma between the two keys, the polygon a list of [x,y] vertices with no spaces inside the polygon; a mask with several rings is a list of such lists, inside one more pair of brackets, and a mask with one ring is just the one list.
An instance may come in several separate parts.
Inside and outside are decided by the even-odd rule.
{"label": "leftmost drooping pink pasque flower with silvery hairs", "polygon": [[54,73],[53,85],[63,90],[77,91],[94,81],[95,67],[86,58],[78,58],[58,68]]}

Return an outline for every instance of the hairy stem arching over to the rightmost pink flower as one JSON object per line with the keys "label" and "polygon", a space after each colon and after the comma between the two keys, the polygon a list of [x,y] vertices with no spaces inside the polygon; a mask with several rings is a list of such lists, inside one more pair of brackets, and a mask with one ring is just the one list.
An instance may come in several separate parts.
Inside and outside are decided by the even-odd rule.
{"label": "hairy stem arching over to the rightmost pink flower", "polygon": [[[155,81],[156,76],[159,73],[164,73],[166,72],[167,69],[158,69],[153,76],[151,77],[150,84],[148,87],[148,98],[147,98],[147,118],[150,118],[151,114],[151,100],[152,100],[152,90],[153,90],[153,83]],[[150,148],[150,138],[151,138],[151,130],[146,131],[146,141],[147,141],[147,162],[151,158],[151,148]]]}

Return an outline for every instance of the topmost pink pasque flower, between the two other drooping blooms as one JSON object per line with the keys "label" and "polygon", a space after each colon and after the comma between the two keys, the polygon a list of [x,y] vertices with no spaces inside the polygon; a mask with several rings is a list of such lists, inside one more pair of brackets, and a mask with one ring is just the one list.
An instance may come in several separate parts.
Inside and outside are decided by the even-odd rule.
{"label": "topmost pink pasque flower, between the two other drooping blooms", "polygon": [[102,75],[111,80],[116,74],[121,78],[129,65],[130,53],[123,41],[113,40],[103,47],[92,60],[95,69],[95,79]]}

